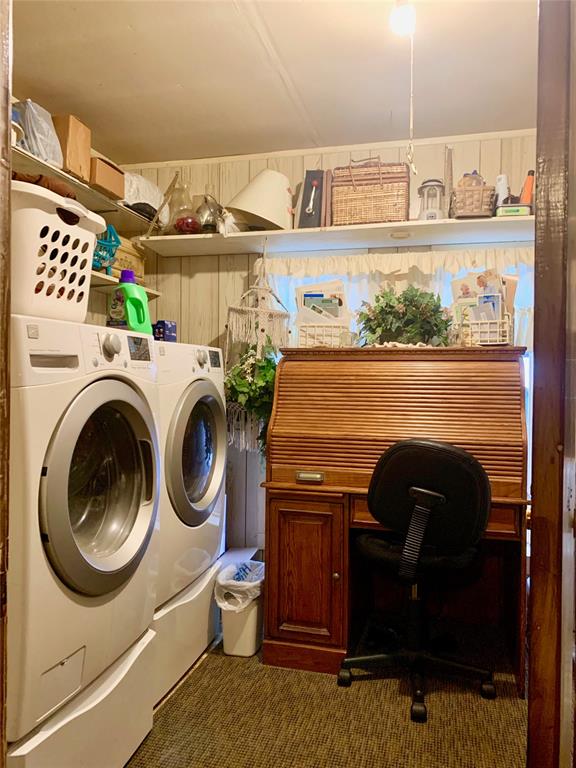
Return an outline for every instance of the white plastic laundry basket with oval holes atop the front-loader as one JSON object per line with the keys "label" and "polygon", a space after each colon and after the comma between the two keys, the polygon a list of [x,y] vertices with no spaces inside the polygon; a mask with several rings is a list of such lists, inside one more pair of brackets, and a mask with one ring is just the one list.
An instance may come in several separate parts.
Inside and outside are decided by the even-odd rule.
{"label": "white plastic laundry basket with oval holes atop the front-loader", "polygon": [[11,311],[83,323],[96,235],[105,229],[76,200],[13,181]]}

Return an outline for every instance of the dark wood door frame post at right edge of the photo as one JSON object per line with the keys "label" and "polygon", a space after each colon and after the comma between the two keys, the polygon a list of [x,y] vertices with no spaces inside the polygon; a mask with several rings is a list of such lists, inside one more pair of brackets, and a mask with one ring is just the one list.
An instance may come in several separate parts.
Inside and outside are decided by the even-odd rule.
{"label": "dark wood door frame post at right edge of the photo", "polygon": [[575,290],[576,253],[568,248],[570,6],[569,0],[541,0],[539,15],[529,768],[560,764],[563,570],[570,565],[570,554],[563,553],[563,536],[574,505],[576,414],[571,368],[576,364],[570,361],[575,336],[570,294]]}

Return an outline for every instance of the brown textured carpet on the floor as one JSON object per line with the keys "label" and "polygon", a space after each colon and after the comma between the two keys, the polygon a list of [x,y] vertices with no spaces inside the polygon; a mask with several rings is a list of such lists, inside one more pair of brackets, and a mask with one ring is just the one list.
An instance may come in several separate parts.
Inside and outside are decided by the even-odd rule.
{"label": "brown textured carpet on the floor", "polygon": [[218,649],[157,711],[129,768],[521,768],[526,702],[496,676],[428,683],[428,723],[409,719],[396,677],[338,688],[335,677],[263,666]]}

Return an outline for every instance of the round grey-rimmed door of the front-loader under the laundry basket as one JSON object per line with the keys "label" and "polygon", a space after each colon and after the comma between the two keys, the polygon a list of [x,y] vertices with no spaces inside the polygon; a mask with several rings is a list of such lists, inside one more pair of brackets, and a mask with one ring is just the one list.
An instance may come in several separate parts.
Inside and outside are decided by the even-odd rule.
{"label": "round grey-rimmed door of the front-loader under the laundry basket", "polygon": [[82,390],[52,436],[40,484],[40,529],[50,563],[70,588],[104,595],[134,573],[158,508],[158,436],[128,384]]}

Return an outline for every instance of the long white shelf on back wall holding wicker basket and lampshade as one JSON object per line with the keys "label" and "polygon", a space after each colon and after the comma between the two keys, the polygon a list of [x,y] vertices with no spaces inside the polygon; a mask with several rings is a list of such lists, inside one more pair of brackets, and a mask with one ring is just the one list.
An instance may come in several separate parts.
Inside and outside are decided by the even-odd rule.
{"label": "long white shelf on back wall holding wicker basket and lampshade", "polygon": [[348,227],[237,232],[223,235],[165,235],[140,238],[160,256],[339,251],[354,248],[393,248],[419,245],[465,245],[534,241],[534,216],[492,219],[441,219]]}

